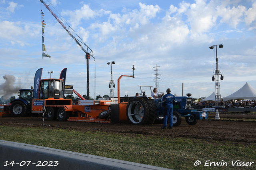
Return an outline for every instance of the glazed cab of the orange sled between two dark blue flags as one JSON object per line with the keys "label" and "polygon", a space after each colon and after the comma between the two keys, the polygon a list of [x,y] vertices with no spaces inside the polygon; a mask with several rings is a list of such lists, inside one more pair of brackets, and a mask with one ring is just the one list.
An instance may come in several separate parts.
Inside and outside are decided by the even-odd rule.
{"label": "glazed cab of the orange sled between two dark blue flags", "polygon": [[44,79],[40,81],[40,99],[63,99],[63,80]]}

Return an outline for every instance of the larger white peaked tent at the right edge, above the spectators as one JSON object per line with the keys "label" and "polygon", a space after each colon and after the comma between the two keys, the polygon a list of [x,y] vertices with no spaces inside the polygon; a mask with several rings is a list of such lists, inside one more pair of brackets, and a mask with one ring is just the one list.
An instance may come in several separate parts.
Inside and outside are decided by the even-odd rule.
{"label": "larger white peaked tent at the right edge, above the spectators", "polygon": [[243,99],[250,99],[250,100],[256,100],[256,90],[246,82],[242,88],[234,92],[233,94],[230,94],[229,96],[223,98],[223,102],[227,100],[243,100]]}

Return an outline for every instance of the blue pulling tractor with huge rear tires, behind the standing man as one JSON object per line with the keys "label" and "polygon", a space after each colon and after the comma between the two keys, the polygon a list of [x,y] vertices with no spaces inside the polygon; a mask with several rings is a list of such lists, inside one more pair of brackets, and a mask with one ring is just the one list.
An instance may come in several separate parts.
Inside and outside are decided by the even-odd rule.
{"label": "blue pulling tractor with huge rear tires, behind the standing man", "polygon": [[[134,125],[150,124],[153,122],[162,124],[164,122],[165,109],[161,103],[155,106],[154,99],[151,96],[152,86],[139,87],[141,93],[137,98],[120,98],[120,100],[127,100],[127,102],[129,102],[126,109],[128,120]],[[151,93],[149,96],[146,96],[146,92],[142,90],[142,87],[150,87]],[[173,109],[173,126],[179,126],[182,117],[185,117],[189,125],[195,125],[198,120],[207,119],[208,112],[191,108],[192,98],[190,96],[191,94],[187,94],[187,97],[175,97],[177,103],[174,105]],[[148,111],[146,111],[147,109]]]}

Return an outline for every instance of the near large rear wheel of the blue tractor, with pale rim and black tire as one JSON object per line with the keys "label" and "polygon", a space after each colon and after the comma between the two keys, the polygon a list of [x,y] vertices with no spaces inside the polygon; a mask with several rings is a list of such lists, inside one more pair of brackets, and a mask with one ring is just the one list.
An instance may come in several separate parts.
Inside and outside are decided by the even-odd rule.
{"label": "near large rear wheel of the blue tractor, with pale rim and black tire", "polygon": [[134,125],[145,125],[149,116],[147,102],[140,97],[133,98],[126,107],[126,116]]}

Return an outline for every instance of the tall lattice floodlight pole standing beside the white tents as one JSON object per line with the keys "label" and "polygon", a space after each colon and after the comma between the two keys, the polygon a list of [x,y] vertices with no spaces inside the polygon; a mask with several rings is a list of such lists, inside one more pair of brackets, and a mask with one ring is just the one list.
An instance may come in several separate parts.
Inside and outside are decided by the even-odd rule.
{"label": "tall lattice floodlight pole standing beside the white tents", "polygon": [[[215,106],[220,106],[221,105],[220,80],[223,80],[224,76],[222,76],[222,74],[220,74],[221,72],[218,68],[217,46],[219,46],[219,48],[223,48],[223,44],[212,45],[209,48],[212,50],[212,49],[214,49],[214,46],[216,48],[216,70],[215,70],[214,74],[212,75],[212,81],[215,80]],[[214,76],[215,76],[215,78],[214,78]]]}

